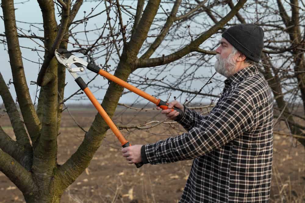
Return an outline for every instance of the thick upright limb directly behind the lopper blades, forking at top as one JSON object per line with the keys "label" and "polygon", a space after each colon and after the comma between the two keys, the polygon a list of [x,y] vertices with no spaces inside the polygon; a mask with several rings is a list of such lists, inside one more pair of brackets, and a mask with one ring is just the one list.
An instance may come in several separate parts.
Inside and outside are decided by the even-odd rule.
{"label": "thick upright limb directly behind the lopper blades, forking at top", "polygon": [[[43,22],[45,28],[45,47],[48,48],[49,52],[45,53],[44,68],[45,72],[48,68],[48,74],[44,75],[44,71],[40,72],[40,76],[52,75],[53,78],[50,81],[41,80],[41,88],[38,107],[42,115],[42,128],[41,136],[39,137],[38,143],[34,145],[34,156],[33,156],[33,172],[34,174],[45,174],[44,176],[35,176],[37,181],[48,181],[47,176],[51,176],[54,168],[57,167],[57,123],[58,123],[58,62],[52,56],[54,51],[59,47],[65,30],[69,21],[70,14],[70,0],[66,1],[67,9],[63,9],[61,15],[61,26],[59,31],[56,32],[56,19],[55,9],[53,1],[38,0],[41,7]],[[48,62],[46,62],[48,61]],[[42,74],[41,74],[42,73]],[[42,77],[40,78],[42,79]]]}

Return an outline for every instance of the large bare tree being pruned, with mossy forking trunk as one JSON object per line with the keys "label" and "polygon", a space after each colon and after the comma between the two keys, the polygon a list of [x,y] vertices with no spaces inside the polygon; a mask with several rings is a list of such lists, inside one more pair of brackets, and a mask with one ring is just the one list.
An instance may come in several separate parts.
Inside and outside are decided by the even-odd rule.
{"label": "large bare tree being pruned, with mossy forking trunk", "polygon": [[[97,29],[101,30],[101,33],[93,44],[84,46],[79,43],[75,34],[71,33],[74,26],[79,23],[86,24],[88,19],[94,17],[92,13],[89,13],[82,19],[74,19],[84,3],[83,0],[72,2],[70,0],[38,0],[43,17],[43,37],[31,32],[27,35],[22,29],[18,28],[16,26],[14,1],[2,0],[1,6],[5,24],[5,40],[3,40],[3,43],[8,48],[13,85],[23,119],[20,118],[9,89],[2,76],[0,76],[0,93],[16,135],[16,141],[14,141],[0,128],[0,148],[2,149],[0,150],[0,170],[2,173],[9,177],[22,191],[27,202],[59,202],[63,191],[88,167],[95,151],[102,142],[103,135],[108,130],[106,123],[97,115],[89,131],[85,133],[84,140],[77,151],[63,165],[57,164],[57,136],[59,135],[63,110],[61,98],[63,98],[65,88],[65,71],[64,67],[59,65],[53,57],[56,48],[67,48],[69,41],[74,40],[72,45],[78,47],[81,53],[87,55],[92,62],[95,62],[98,58],[96,54],[99,53],[99,49],[104,49],[103,51],[106,54],[102,57],[106,58],[106,63],[103,68],[108,67],[107,61],[116,59],[112,57],[113,51],[116,51],[119,61],[114,75],[127,81],[129,76],[139,68],[160,65],[169,67],[167,65],[175,64],[181,58],[184,60],[186,56],[191,56],[193,52],[215,54],[209,50],[203,50],[199,46],[214,33],[217,33],[218,30],[223,29],[224,25],[235,16],[245,2],[246,0],[239,0],[234,7],[229,9],[229,12],[224,11],[222,17],[215,13],[213,8],[225,7],[228,9],[228,6],[224,6],[227,1],[208,2],[205,0],[191,4],[188,1],[176,0],[161,4],[160,0],[149,0],[147,2],[138,0],[134,13],[132,7],[120,5],[118,0],[105,0],[103,2],[105,10],[96,14],[104,15],[106,19],[102,28]],[[165,5],[170,8],[169,11],[163,9]],[[59,25],[56,22],[56,8],[60,13]],[[123,11],[124,15],[130,16],[130,21],[125,21],[125,18],[123,20]],[[112,17],[110,12],[114,13],[115,17]],[[160,12],[163,16],[159,18],[157,12]],[[191,26],[195,25],[193,24],[197,21],[195,16],[200,13],[206,13],[211,19],[216,19],[213,17],[213,15],[216,15],[218,20],[203,22],[206,27],[201,27],[202,30],[199,33],[192,33]],[[159,26],[152,26],[152,23]],[[179,36],[179,29],[183,28],[185,24],[188,25],[184,27],[182,36]],[[117,29],[116,32],[115,29]],[[84,30],[83,33],[86,34],[87,32]],[[171,39],[172,36],[168,32],[176,33],[178,36]],[[151,37],[155,38],[153,42],[148,39],[150,33],[152,33]],[[41,46],[35,41],[40,47],[44,48],[44,62],[41,65],[37,80],[37,84],[41,86],[37,109],[35,109],[30,98],[28,83],[24,74],[19,45],[19,38],[22,37],[41,40],[44,44]],[[166,40],[174,40],[177,37],[184,38],[186,41],[181,43],[179,48],[170,46],[172,50],[167,55],[151,58],[160,48],[161,42],[165,43]],[[40,51],[36,48],[33,48],[33,50]],[[143,51],[145,53],[138,57]],[[193,59],[188,59],[188,61]],[[208,61],[206,58],[203,58],[203,60]],[[188,61],[185,61],[185,64]],[[183,75],[193,76],[195,69],[191,73],[186,70]],[[187,79],[187,77],[183,78],[181,76],[177,81],[185,82],[190,86],[192,82],[184,81],[184,79]],[[145,80],[148,81],[148,79]],[[154,81],[150,81],[149,86],[154,86]],[[164,84],[162,80],[160,83]],[[134,84],[137,83],[134,82]],[[122,91],[122,87],[110,82],[102,102],[102,107],[110,117],[114,114]],[[184,92],[190,95],[193,93],[200,94],[200,92],[189,91],[188,89],[185,89]],[[215,96],[211,93],[201,95]]]}

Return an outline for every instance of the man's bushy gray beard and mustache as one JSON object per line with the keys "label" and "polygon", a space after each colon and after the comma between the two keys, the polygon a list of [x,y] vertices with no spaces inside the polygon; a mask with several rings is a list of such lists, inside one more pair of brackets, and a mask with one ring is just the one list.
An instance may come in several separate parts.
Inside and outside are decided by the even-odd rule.
{"label": "man's bushy gray beard and mustache", "polygon": [[226,78],[231,77],[235,74],[236,62],[233,60],[235,54],[230,54],[228,58],[220,58],[220,55],[217,54],[217,61],[215,62],[214,68],[215,70],[223,75]]}

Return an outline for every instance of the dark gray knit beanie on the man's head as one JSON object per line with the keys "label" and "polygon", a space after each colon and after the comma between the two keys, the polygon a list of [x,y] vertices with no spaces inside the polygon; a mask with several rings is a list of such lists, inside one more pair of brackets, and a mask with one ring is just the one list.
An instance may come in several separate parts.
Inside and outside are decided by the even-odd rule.
{"label": "dark gray knit beanie on the man's head", "polygon": [[222,37],[252,61],[259,62],[264,47],[264,31],[254,24],[240,24],[224,31]]}

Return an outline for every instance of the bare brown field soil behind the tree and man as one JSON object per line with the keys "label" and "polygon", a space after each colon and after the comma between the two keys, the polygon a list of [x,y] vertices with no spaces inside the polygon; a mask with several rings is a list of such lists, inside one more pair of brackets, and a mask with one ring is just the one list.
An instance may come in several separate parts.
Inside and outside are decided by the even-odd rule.
{"label": "bare brown field soil behind the tree and man", "polygon": [[[88,130],[95,118],[94,109],[69,108],[77,123]],[[123,109],[124,110],[124,109]],[[148,117],[149,115],[149,117]],[[118,112],[116,124],[135,125],[145,121],[163,120],[156,110],[137,113]],[[14,137],[7,116],[1,117],[1,126]],[[58,163],[63,164],[80,145],[84,132],[78,128],[70,114],[64,111],[58,138]],[[284,124],[275,131],[285,132]],[[281,129],[282,127],[282,129]],[[131,144],[153,143],[183,129],[177,124],[161,124],[147,130],[122,130]],[[63,203],[99,202],[160,202],[175,203],[181,197],[192,161],[164,165],[144,165],[137,169],[126,163],[121,147],[109,130],[89,167],[63,194]],[[270,202],[305,202],[305,152],[295,139],[274,135],[274,159]],[[18,188],[0,172],[0,203],[24,202]]]}

